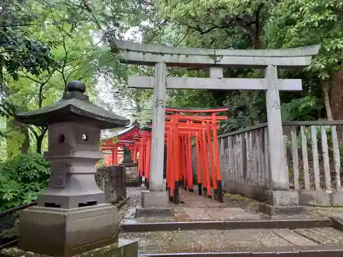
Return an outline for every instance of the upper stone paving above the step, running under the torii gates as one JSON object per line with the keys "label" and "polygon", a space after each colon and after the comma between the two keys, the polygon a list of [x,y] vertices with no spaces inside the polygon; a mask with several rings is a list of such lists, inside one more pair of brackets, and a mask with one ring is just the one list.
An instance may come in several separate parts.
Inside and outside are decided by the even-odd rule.
{"label": "upper stone paving above the step, running under the torii gates", "polygon": [[[128,188],[128,208],[121,223],[166,222],[166,221],[226,221],[235,219],[270,219],[257,212],[258,202],[239,195],[224,195],[224,203],[208,199],[196,193],[180,190],[182,204],[170,204],[171,212],[156,217],[135,217],[136,208],[141,208],[141,192],[146,188]],[[318,217],[315,212],[293,215],[294,219]],[[280,217],[282,218],[282,217]]]}

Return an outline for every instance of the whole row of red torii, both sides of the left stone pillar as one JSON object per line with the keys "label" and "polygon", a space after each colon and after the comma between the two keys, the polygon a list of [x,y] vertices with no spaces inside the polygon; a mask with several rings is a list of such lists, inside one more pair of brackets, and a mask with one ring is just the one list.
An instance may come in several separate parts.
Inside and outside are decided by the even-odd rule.
{"label": "whole row of red torii, both sides of the left stone pillar", "polygon": [[[165,146],[166,187],[169,200],[178,204],[179,186],[193,192],[193,185],[198,184],[199,195],[223,201],[220,171],[220,154],[217,140],[217,129],[220,121],[226,116],[217,116],[217,112],[227,111],[220,108],[166,108]],[[117,134],[116,138],[103,140],[102,151],[106,165],[117,165],[123,156],[123,147],[131,151],[132,162],[138,162],[137,175],[145,186],[150,181],[150,158],[152,128],[134,125]],[[193,146],[195,155],[192,156]],[[109,152],[108,152],[109,151]],[[193,167],[193,157],[196,167]],[[193,169],[196,170],[196,181],[193,181]]]}

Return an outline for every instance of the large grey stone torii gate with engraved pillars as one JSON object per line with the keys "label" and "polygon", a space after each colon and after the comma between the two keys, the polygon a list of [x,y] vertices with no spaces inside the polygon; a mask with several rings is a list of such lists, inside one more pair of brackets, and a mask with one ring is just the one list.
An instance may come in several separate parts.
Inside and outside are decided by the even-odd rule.
{"label": "large grey stone torii gate with engraved pillars", "polygon": [[[131,88],[154,88],[150,190],[163,191],[166,89],[265,90],[270,153],[270,190],[287,191],[280,90],[302,90],[301,79],[278,79],[277,69],[309,66],[319,46],[295,49],[188,49],[113,40],[122,62],[155,66],[154,77],[129,77]],[[209,67],[210,77],[167,77],[167,66]],[[264,69],[265,78],[223,77],[223,68]],[[291,195],[289,195],[291,197]],[[274,198],[274,197],[272,197]],[[286,197],[287,198],[287,197]]]}

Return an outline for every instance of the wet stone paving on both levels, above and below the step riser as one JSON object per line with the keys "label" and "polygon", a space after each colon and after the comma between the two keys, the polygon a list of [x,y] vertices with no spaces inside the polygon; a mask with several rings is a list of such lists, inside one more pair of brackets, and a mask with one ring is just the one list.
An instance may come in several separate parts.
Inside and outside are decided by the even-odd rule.
{"label": "wet stone paving on both levels, above and below the step riser", "polygon": [[[128,206],[122,224],[160,223],[168,221],[239,221],[271,219],[257,212],[258,202],[239,195],[224,195],[224,203],[206,199],[196,193],[180,190],[181,204],[170,204],[163,214],[136,217],[141,208],[144,187],[128,188]],[[272,219],[309,219],[329,216],[343,217],[342,209],[309,208],[307,214]],[[343,233],[333,228],[245,229],[245,230],[176,230],[155,232],[121,232],[120,238],[137,240],[139,254],[240,252],[282,247],[343,247]],[[281,248],[280,248],[281,247]],[[288,248],[287,248],[288,249]],[[268,252],[268,250],[267,250]],[[329,256],[328,256],[329,257]]]}

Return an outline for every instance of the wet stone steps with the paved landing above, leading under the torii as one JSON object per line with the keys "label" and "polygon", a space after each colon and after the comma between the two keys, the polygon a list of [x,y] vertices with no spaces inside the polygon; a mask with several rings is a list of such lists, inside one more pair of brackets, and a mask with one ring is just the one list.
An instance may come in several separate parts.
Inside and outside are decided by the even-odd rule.
{"label": "wet stone steps with the paved landing above, leading under the torii", "polygon": [[183,193],[186,201],[179,206],[128,208],[120,238],[137,240],[140,256],[343,256],[340,218],[267,217],[254,204],[236,207],[199,198],[190,206],[188,192]]}

